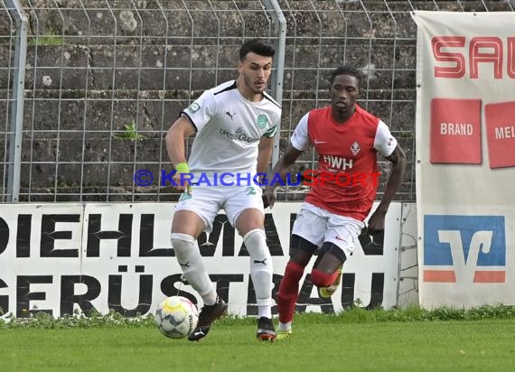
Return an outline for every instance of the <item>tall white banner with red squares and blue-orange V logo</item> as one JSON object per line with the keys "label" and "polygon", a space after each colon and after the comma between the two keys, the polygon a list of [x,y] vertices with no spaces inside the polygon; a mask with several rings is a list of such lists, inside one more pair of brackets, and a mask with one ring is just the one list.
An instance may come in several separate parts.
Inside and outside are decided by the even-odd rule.
{"label": "tall white banner with red squares and blue-orange V logo", "polygon": [[419,302],[515,304],[515,13],[415,12]]}

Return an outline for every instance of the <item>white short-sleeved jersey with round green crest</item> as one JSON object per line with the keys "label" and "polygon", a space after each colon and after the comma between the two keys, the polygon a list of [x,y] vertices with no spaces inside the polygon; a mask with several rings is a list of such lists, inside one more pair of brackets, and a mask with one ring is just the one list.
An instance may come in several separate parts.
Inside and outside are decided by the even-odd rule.
{"label": "white short-sleeved jersey with round green crest", "polygon": [[197,130],[188,160],[195,183],[202,173],[255,174],[259,140],[276,135],[281,107],[267,93],[249,101],[231,80],[204,91],[181,115]]}

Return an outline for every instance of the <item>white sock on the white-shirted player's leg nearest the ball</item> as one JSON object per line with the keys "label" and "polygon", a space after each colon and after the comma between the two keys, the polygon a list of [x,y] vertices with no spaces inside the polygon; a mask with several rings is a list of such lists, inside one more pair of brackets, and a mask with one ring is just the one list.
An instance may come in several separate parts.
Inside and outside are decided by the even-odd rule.
{"label": "white sock on the white-shirted player's leg nearest the ball", "polygon": [[181,233],[173,233],[171,240],[184,277],[201,295],[204,304],[214,305],[217,298],[215,285],[206,272],[197,241],[191,235]]}

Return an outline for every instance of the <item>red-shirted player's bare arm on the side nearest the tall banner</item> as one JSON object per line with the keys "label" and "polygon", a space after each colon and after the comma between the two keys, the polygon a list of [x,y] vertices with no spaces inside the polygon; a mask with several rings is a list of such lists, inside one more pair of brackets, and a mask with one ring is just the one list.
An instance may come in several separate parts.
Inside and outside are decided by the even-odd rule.
{"label": "red-shirted player's bare arm on the side nearest the tall banner", "polygon": [[398,188],[404,179],[404,173],[406,172],[406,154],[399,144],[397,144],[393,153],[389,154],[389,156],[386,156],[386,159],[388,159],[391,163],[389,179],[387,181],[386,190],[382,200],[379,202],[378,208],[370,217],[370,235],[374,235],[376,232],[384,230],[384,221],[389,209],[389,204],[397,193]]}

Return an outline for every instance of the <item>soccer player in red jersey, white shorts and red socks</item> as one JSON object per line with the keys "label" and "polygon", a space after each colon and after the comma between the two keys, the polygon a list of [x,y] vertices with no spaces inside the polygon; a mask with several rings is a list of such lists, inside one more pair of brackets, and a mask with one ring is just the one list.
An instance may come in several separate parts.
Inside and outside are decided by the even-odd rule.
{"label": "soccer player in red jersey, white shorts and red socks", "polygon": [[[351,256],[376,197],[377,153],[392,166],[384,196],[369,219],[370,235],[384,230],[389,204],[404,177],[406,155],[388,126],[356,104],[360,80],[360,71],[349,66],[332,72],[331,106],[314,109],[301,118],[286,152],[272,170],[285,180],[290,166],[309,144],[319,154],[318,177],[295,219],[290,259],[277,294],[277,339],[291,334],[299,281],[315,251],[318,258],[310,277],[319,294],[330,297],[338,288],[342,265]],[[328,174],[331,177],[324,177]],[[342,181],[352,179],[352,175],[359,176],[360,181]],[[278,185],[275,182],[265,189],[264,200],[270,207]]]}

